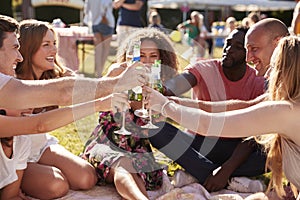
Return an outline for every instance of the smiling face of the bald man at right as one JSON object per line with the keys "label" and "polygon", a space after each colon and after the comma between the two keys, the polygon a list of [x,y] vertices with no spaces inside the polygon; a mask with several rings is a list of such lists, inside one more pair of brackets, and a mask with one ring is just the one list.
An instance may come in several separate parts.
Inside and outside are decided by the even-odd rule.
{"label": "smiling face of the bald man at right", "polygon": [[249,30],[245,38],[246,60],[254,64],[258,76],[264,76],[270,65],[276,41],[262,28]]}

